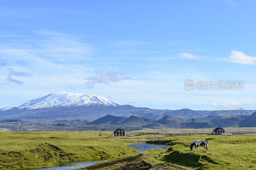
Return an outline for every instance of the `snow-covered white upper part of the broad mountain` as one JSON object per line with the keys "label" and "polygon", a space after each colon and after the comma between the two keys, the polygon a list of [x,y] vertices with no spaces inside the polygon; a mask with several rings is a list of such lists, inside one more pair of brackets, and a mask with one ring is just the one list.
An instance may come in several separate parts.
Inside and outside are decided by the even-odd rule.
{"label": "snow-covered white upper part of the broad mountain", "polygon": [[29,102],[20,105],[18,108],[42,109],[60,106],[74,107],[89,105],[119,106],[105,97],[95,96],[94,94],[82,95],[79,93],[54,92],[47,96],[30,100]]}

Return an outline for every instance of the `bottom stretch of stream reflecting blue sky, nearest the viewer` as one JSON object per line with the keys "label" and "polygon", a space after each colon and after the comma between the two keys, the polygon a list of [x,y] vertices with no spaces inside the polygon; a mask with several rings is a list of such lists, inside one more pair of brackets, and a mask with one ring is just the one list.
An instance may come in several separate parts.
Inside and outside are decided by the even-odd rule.
{"label": "bottom stretch of stream reflecting blue sky, nearest the viewer", "polygon": [[33,169],[33,170],[70,170],[70,169],[91,166],[100,161],[101,159],[92,159],[92,160],[75,161],[75,162],[59,162],[58,164],[56,164],[56,166],[51,168],[39,168],[39,169]]}

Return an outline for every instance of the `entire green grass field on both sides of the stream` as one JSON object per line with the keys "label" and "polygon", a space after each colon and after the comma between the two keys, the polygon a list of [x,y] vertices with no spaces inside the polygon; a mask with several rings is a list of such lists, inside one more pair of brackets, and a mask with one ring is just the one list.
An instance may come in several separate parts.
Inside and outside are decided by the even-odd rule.
{"label": "entire green grass field on both sides of the stream", "polygon": [[[85,159],[108,159],[86,168],[106,170],[256,167],[256,134],[213,136],[133,132],[134,137],[112,137],[111,134],[112,131],[1,132],[0,169],[50,167],[60,161]],[[209,153],[189,150],[188,145],[196,139],[209,141]],[[128,147],[140,141],[171,147],[142,153]],[[203,147],[199,151],[203,151]]]}

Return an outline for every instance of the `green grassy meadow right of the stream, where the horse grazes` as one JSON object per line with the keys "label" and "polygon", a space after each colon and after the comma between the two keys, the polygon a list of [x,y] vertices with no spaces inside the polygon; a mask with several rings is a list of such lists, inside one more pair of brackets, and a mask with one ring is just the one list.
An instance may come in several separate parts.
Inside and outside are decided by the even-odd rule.
{"label": "green grassy meadow right of the stream, where the horse grazes", "polygon": [[[206,139],[209,152],[190,151],[195,139]],[[86,169],[256,169],[256,135],[173,135],[147,143],[170,145],[168,150],[153,149],[134,156],[101,161]],[[203,151],[204,147],[199,147]]]}

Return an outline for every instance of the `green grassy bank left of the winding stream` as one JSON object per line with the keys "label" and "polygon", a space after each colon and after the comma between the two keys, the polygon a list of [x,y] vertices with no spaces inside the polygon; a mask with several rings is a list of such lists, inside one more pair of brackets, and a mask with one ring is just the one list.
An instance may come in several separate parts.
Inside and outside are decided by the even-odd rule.
{"label": "green grassy bank left of the winding stream", "polygon": [[52,167],[57,162],[111,159],[137,153],[112,131],[1,132],[0,169]]}

